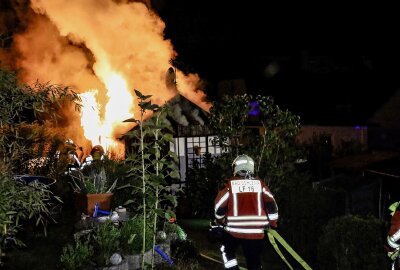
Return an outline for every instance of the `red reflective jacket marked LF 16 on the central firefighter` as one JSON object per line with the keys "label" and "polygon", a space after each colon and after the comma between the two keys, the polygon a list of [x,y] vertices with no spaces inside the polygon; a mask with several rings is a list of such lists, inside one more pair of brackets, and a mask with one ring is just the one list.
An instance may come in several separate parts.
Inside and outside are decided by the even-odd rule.
{"label": "red reflective jacket marked LF 16 on the central firefighter", "polygon": [[268,225],[277,226],[278,206],[259,178],[230,179],[215,199],[215,218],[236,238],[262,239]]}

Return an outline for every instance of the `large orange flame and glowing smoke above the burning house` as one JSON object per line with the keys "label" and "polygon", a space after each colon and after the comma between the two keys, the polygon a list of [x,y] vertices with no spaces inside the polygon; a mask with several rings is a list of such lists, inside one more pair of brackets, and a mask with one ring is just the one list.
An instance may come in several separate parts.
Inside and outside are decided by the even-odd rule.
{"label": "large orange flame and glowing smoke above the burning house", "polygon": [[[13,55],[27,82],[50,81],[79,92],[83,108],[71,115],[65,134],[80,145],[101,144],[121,154],[118,138],[132,128],[134,89],[164,104],[182,94],[204,110],[197,74],[177,70],[178,87],[166,87],[176,57],[163,36],[165,24],[141,2],[112,0],[31,0],[25,31],[14,36]],[[15,57],[17,55],[17,57]],[[82,130],[77,128],[82,126]],[[118,154],[118,155],[119,155]]]}

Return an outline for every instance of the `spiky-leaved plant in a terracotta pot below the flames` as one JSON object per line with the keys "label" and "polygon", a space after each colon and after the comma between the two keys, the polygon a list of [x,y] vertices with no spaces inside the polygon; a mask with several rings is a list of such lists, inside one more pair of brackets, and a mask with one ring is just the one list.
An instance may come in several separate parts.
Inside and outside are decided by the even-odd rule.
{"label": "spiky-leaved plant in a terracotta pot below the flames", "polygon": [[117,179],[109,179],[106,166],[102,161],[92,164],[82,171],[72,171],[70,176],[76,198],[75,205],[79,211],[86,215],[93,215],[96,203],[102,210],[111,209],[111,200]]}

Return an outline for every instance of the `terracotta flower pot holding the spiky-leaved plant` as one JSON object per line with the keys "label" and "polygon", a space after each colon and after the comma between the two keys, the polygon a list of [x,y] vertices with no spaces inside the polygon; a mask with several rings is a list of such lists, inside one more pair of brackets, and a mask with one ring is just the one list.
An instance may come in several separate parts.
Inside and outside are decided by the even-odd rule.
{"label": "terracotta flower pot holding the spiky-leaved plant", "polygon": [[111,210],[113,193],[82,194],[75,193],[75,206],[78,211],[86,215],[93,215],[96,203],[99,203],[101,210]]}

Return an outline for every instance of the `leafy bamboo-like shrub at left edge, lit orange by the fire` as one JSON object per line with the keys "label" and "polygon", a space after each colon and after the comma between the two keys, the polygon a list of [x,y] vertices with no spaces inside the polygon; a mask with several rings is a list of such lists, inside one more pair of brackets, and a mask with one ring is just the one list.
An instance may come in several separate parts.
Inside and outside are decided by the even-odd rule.
{"label": "leafy bamboo-like shrub at left edge, lit orange by the fire", "polygon": [[17,75],[0,69],[0,263],[7,247],[23,245],[17,239],[21,223],[34,220],[46,232],[51,218],[54,196],[48,187],[40,183],[21,185],[14,176],[28,171],[29,166],[24,165],[33,153],[52,156],[52,146],[57,143],[40,141],[41,127],[50,125],[50,119],[57,123],[63,106],[76,105],[79,109],[79,97],[69,87],[21,84]]}

